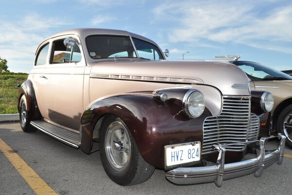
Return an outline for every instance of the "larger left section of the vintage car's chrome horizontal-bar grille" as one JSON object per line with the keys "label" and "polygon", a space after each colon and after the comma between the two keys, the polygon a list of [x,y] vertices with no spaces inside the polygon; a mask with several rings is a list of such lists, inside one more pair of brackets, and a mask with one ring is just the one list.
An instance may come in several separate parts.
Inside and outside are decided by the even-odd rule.
{"label": "larger left section of the vintage car's chrome horizontal-bar grille", "polygon": [[[210,153],[217,143],[244,142],[250,116],[250,97],[223,96],[223,109],[219,116],[207,117],[203,124],[202,154]],[[242,151],[245,144],[226,146],[228,150]]]}

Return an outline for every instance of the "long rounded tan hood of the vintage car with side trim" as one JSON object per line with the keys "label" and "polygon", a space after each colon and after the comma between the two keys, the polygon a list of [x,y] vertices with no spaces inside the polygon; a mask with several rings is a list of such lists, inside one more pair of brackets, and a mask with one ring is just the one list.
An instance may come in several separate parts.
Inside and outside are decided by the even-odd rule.
{"label": "long rounded tan hood of the vintage car with side trim", "polygon": [[204,84],[218,88],[223,95],[249,96],[249,79],[237,66],[218,61],[189,60],[99,60],[88,64],[91,77]]}

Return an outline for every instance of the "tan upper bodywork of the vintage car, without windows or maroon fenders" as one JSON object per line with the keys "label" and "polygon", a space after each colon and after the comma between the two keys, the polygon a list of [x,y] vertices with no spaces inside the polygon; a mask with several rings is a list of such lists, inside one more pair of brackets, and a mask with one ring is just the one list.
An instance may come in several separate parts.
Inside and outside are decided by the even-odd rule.
{"label": "tan upper bodywork of the vintage car, without windows or maroon fenders", "polygon": [[[206,105],[219,114],[221,95],[250,96],[245,73],[227,62],[147,59],[92,59],[86,45],[91,35],[118,35],[145,40],[127,31],[108,29],[73,29],[55,34],[50,42],[47,63],[34,66],[30,77],[42,116],[50,121],[63,121],[66,127],[78,130],[80,117],[92,101],[115,94],[154,91],[161,88],[191,86],[206,96]],[[51,64],[55,40],[73,37],[80,43],[80,62]],[[162,54],[161,49],[158,47]],[[36,53],[36,54],[37,54]],[[164,56],[162,55],[164,59]],[[199,86],[211,86],[210,89]],[[212,88],[212,89],[211,89]],[[210,108],[212,107],[212,108]],[[68,120],[67,120],[68,118]],[[65,121],[68,121],[67,123]]]}

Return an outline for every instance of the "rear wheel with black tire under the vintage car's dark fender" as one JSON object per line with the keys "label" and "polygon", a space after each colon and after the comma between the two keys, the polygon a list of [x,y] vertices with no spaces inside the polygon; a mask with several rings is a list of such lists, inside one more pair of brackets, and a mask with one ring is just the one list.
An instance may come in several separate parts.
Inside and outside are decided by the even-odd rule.
{"label": "rear wheel with black tire under the vintage car's dark fender", "polygon": [[20,126],[21,126],[22,131],[24,132],[37,131],[37,129],[30,124],[30,120],[29,120],[28,112],[27,112],[26,98],[24,95],[20,99],[18,112],[19,112],[19,121],[20,121]]}

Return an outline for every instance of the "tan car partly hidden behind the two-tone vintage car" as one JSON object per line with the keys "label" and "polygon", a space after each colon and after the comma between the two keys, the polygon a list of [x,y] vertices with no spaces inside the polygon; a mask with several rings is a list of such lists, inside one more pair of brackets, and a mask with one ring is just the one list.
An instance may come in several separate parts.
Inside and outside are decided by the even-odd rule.
{"label": "tan car partly hidden behind the two-tone vintage car", "polygon": [[252,89],[269,91],[274,96],[274,129],[285,135],[286,145],[292,148],[292,77],[281,71],[252,61],[241,61],[240,56],[229,57],[229,62],[242,69],[250,79]]}

